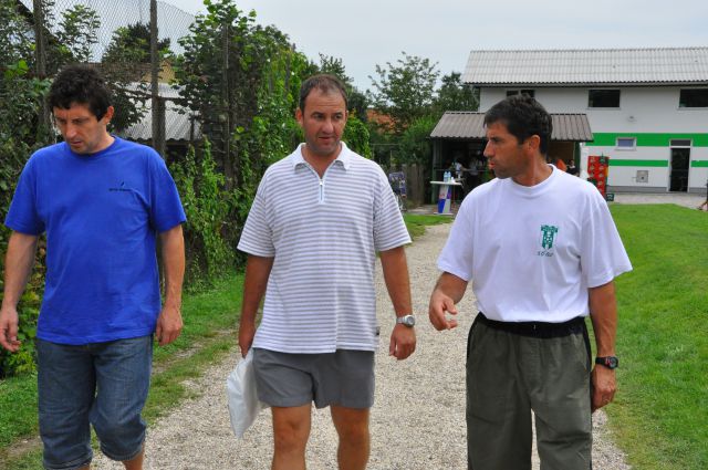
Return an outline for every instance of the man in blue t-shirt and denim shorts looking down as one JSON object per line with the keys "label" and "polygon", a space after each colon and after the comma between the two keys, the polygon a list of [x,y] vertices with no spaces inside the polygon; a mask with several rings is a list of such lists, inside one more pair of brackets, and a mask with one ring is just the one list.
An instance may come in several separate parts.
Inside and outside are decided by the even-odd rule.
{"label": "man in blue t-shirt and denim shorts looking down", "polygon": [[[17,304],[46,234],[45,290],[37,330],[40,435],[48,469],[88,469],[90,425],[101,450],[142,469],[153,335],[181,332],[185,212],[159,155],[107,132],[111,94],[74,65],[49,104],[64,137],[27,163],[6,226],[0,345],[17,352]],[[160,302],[156,236],[162,242]]]}

